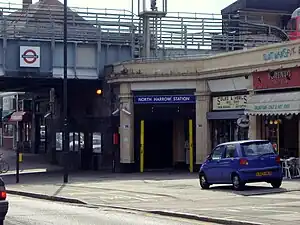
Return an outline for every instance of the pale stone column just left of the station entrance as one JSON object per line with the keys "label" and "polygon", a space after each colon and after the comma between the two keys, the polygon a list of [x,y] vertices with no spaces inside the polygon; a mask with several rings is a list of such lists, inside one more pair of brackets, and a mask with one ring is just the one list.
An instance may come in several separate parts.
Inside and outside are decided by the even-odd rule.
{"label": "pale stone column just left of the station entrance", "polygon": [[[130,84],[120,85],[120,163],[121,170],[131,170],[134,163],[134,107]],[[122,165],[123,164],[123,165]],[[123,169],[122,169],[123,167]]]}

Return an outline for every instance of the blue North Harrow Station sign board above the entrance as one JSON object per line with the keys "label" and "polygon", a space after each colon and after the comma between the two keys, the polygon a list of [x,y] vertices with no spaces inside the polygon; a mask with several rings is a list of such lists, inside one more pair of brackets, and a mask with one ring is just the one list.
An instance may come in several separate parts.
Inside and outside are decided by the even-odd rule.
{"label": "blue North Harrow Station sign board above the entrance", "polygon": [[182,104],[195,102],[195,95],[152,95],[134,97],[134,104]]}

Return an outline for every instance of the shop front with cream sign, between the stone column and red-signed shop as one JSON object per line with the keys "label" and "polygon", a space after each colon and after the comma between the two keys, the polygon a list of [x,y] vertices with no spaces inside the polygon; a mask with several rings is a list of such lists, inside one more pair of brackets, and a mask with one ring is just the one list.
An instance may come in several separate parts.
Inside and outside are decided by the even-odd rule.
{"label": "shop front with cream sign, between the stone column and red-signed shop", "polygon": [[212,130],[212,145],[248,139],[249,120],[244,115],[248,94],[217,96],[212,100],[212,111],[207,113]]}

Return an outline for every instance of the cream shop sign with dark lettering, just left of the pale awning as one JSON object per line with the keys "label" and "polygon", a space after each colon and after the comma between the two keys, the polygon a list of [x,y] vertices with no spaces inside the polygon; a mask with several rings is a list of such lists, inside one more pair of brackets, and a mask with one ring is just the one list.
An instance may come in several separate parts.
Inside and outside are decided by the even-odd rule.
{"label": "cream shop sign with dark lettering, just left of the pale awning", "polygon": [[245,109],[249,95],[219,96],[213,98],[213,110]]}

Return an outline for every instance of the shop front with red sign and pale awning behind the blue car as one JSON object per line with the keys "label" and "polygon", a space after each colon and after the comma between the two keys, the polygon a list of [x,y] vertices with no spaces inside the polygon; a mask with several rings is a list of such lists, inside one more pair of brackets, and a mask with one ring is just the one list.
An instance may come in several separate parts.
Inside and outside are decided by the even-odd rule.
{"label": "shop front with red sign and pale awning behind the blue car", "polygon": [[299,157],[300,69],[253,73],[246,114],[256,138],[270,140],[282,158]]}

